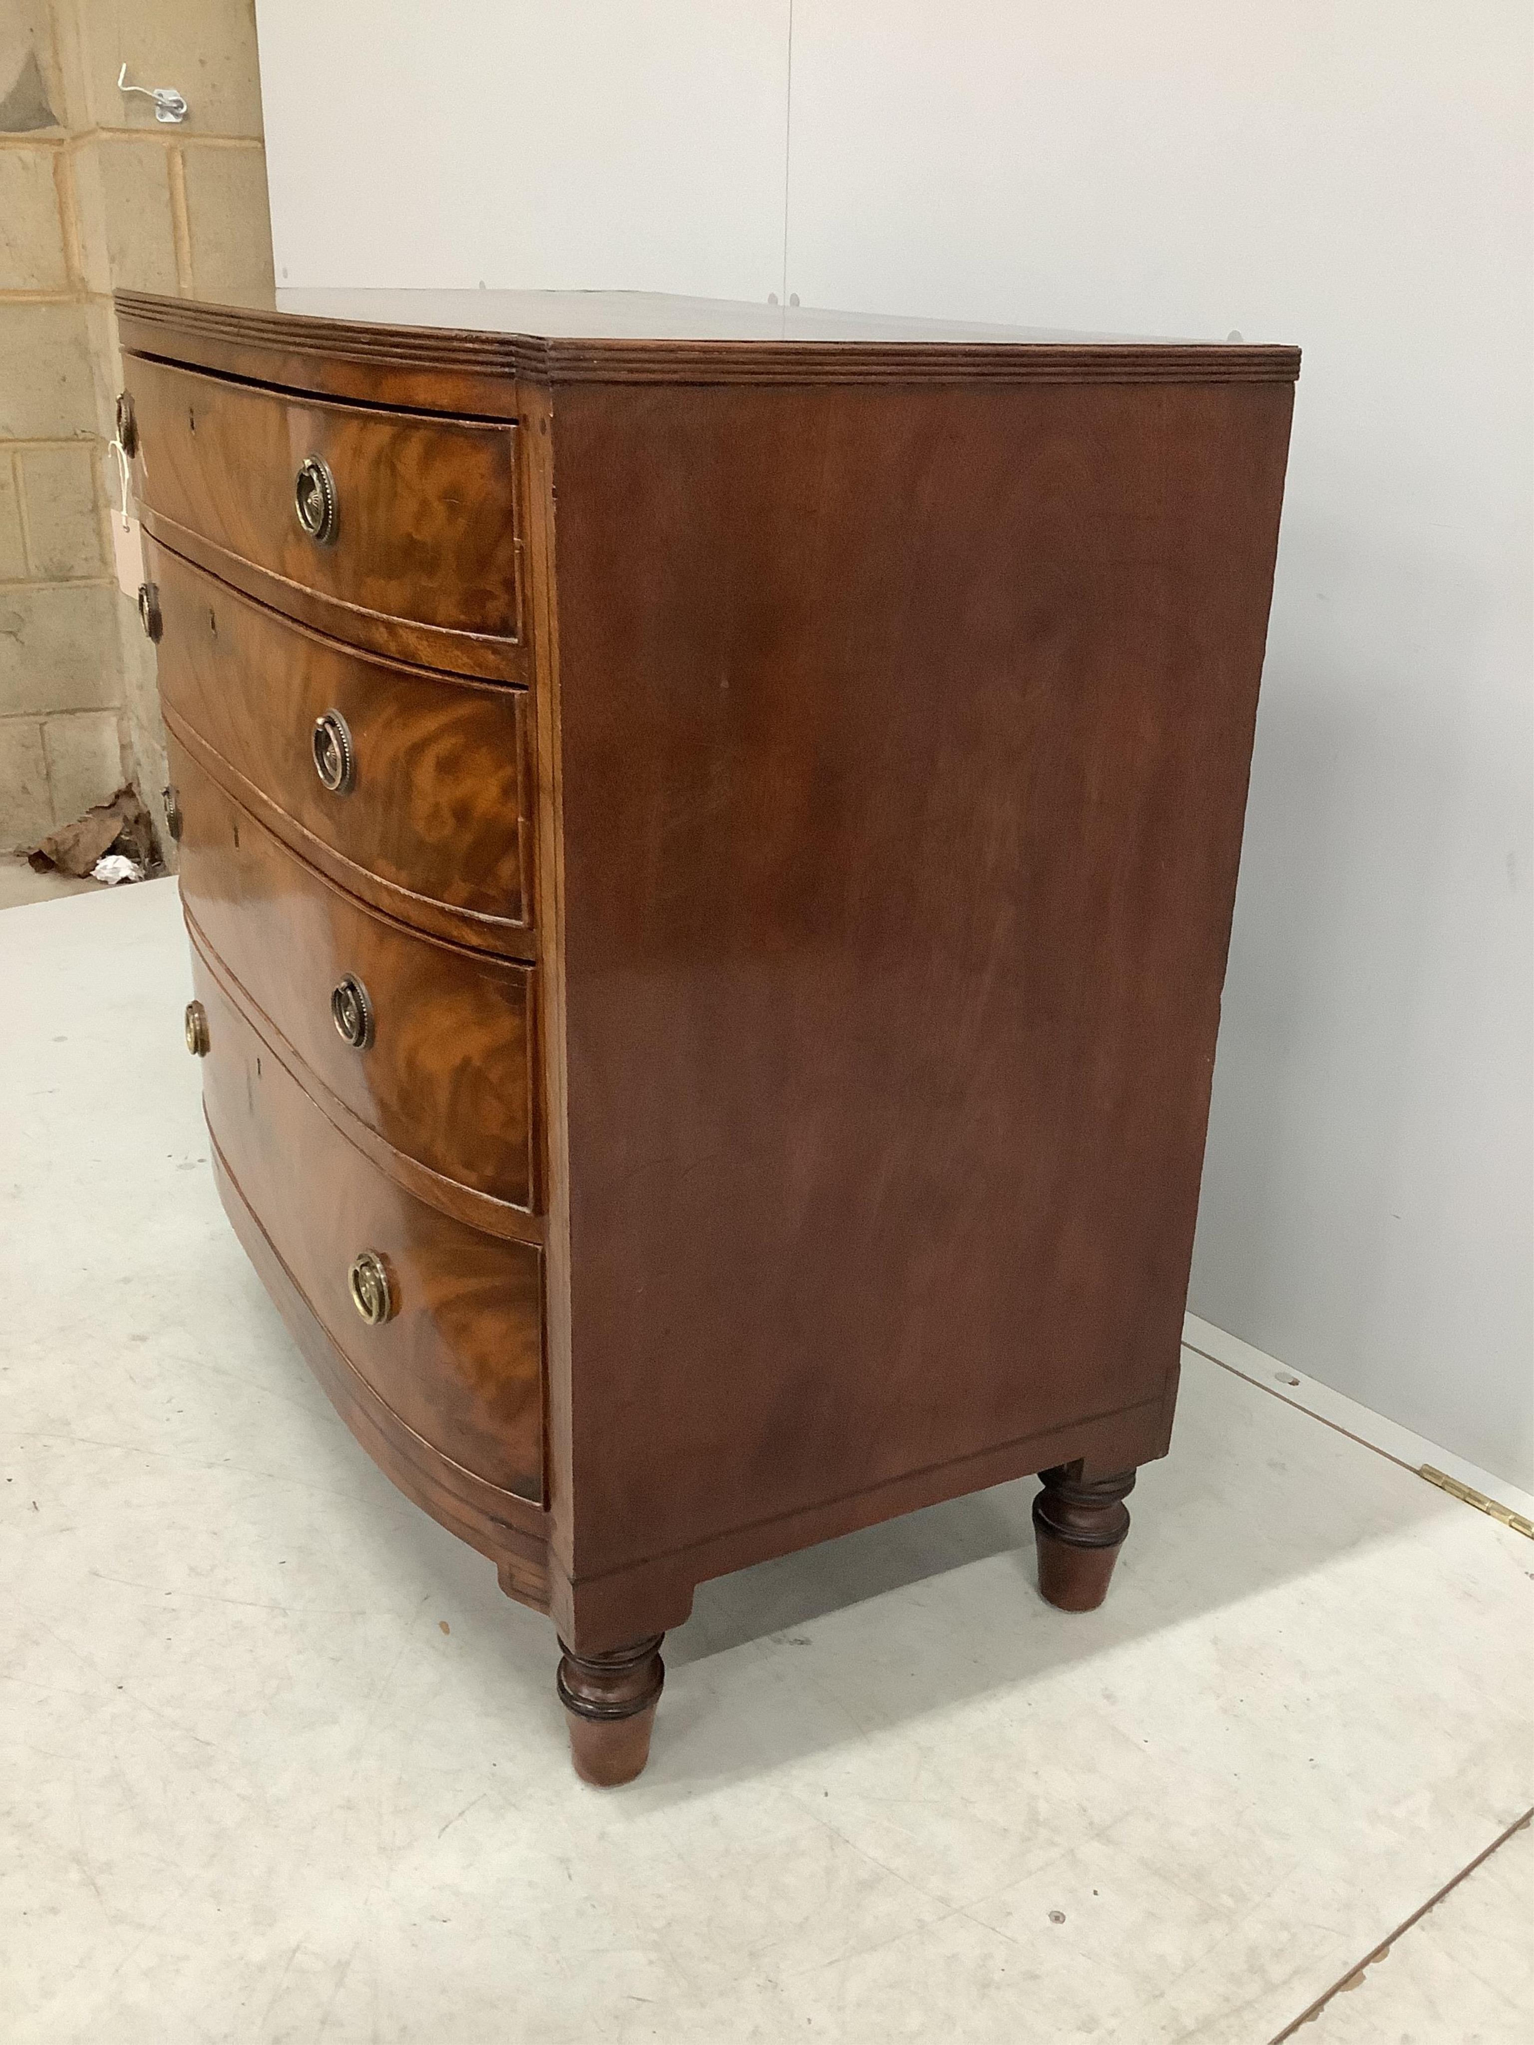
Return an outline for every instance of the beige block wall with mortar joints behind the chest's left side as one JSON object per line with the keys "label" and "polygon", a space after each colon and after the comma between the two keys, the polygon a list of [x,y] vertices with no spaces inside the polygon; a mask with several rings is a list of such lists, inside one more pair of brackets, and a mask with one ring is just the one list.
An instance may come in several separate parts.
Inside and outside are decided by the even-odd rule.
{"label": "beige block wall with mortar joints behind the chest's left side", "polygon": [[119,288],[272,303],[254,0],[0,0],[0,853],[125,779],[164,818],[108,526]]}

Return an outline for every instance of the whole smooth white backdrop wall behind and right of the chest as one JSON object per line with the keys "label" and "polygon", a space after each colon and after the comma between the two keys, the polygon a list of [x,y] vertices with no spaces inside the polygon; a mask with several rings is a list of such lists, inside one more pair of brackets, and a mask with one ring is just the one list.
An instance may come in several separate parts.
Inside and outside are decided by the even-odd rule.
{"label": "whole smooth white backdrop wall behind and right of the chest", "polygon": [[258,20],[295,286],[1305,348],[1190,1305],[1534,1481],[1528,6]]}

